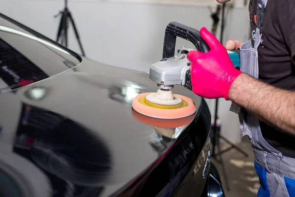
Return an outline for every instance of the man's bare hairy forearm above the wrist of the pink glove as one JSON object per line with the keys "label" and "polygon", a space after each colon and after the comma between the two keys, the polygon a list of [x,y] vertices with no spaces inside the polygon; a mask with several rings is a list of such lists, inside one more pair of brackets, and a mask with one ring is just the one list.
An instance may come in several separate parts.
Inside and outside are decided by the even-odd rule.
{"label": "man's bare hairy forearm above the wrist of the pink glove", "polygon": [[275,88],[242,73],[233,82],[228,98],[262,121],[295,135],[295,92]]}

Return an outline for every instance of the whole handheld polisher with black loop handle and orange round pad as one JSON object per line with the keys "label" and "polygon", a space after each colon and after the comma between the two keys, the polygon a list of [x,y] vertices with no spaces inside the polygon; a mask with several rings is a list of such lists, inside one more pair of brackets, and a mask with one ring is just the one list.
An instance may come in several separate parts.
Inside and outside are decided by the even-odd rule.
{"label": "whole handheld polisher with black loop handle and orange round pad", "polygon": [[[175,55],[177,36],[192,42],[195,48],[182,46]],[[192,99],[171,91],[175,85],[192,91],[190,62],[186,57],[191,50],[205,53],[210,48],[198,30],[177,22],[169,23],[165,31],[163,57],[149,69],[149,78],[157,83],[159,89],[156,93],[140,94],[133,100],[132,106],[137,112],[161,119],[183,118],[196,112]],[[228,55],[239,69],[239,50],[228,50]]]}

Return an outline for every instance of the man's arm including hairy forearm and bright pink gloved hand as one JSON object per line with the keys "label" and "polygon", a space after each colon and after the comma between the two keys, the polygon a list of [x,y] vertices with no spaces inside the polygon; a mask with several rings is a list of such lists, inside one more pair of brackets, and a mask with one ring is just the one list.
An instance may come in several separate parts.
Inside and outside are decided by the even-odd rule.
{"label": "man's arm including hairy forearm and bright pink gloved hand", "polygon": [[200,30],[210,51],[190,51],[193,92],[207,99],[230,99],[260,120],[295,135],[295,92],[267,85],[237,70],[226,48],[206,28]]}

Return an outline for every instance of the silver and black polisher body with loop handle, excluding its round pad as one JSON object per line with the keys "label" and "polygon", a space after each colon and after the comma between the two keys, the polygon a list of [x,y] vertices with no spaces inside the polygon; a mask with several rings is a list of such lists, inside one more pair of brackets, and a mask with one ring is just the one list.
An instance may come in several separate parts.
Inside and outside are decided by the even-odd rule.
{"label": "silver and black polisher body with loop handle, excluding its round pad", "polygon": [[[196,48],[182,46],[175,55],[177,36],[192,42]],[[174,85],[182,85],[192,90],[190,62],[186,57],[191,50],[205,53],[210,48],[198,30],[177,22],[169,23],[165,31],[163,58],[150,67],[149,78],[156,82],[157,86],[162,90],[171,90]],[[239,50],[228,50],[228,55],[236,69],[239,69]]]}

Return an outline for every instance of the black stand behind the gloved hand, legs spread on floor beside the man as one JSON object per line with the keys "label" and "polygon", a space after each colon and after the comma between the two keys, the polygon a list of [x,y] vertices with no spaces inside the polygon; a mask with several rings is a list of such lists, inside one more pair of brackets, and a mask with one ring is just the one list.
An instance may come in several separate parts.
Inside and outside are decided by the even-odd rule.
{"label": "black stand behind the gloved hand, legs spread on floor beside the man", "polygon": [[[222,19],[221,19],[221,32],[220,32],[220,42],[221,42],[221,44],[222,44],[223,32],[224,32],[225,5],[226,5],[226,3],[223,3],[223,6],[222,6]],[[218,22],[218,20],[216,20],[216,19],[215,19],[215,21]],[[214,117],[214,130],[213,130],[213,133],[212,133],[212,155],[211,156],[212,156],[212,158],[214,158],[216,161],[218,161],[221,164],[222,171],[223,171],[223,174],[224,174],[224,179],[225,179],[226,186],[227,186],[227,190],[229,191],[230,187],[229,187],[228,178],[227,178],[227,175],[226,175],[226,171],[225,171],[225,167],[224,167],[224,163],[223,163],[221,155],[223,153],[231,150],[232,148],[235,148],[237,151],[239,151],[240,153],[245,155],[245,157],[248,157],[248,154],[245,153],[243,150],[241,150],[239,147],[237,147],[235,144],[231,143],[228,139],[226,139],[225,137],[220,135],[220,128],[219,128],[219,125],[217,124],[217,120],[218,120],[217,113],[218,113],[218,99],[216,99],[216,103],[215,103],[215,117]],[[228,144],[231,145],[231,147],[227,148],[226,150],[221,151],[221,149],[220,149],[220,139],[223,139],[224,141],[226,141]],[[217,149],[218,149],[218,154],[217,155],[215,155],[215,146],[217,146]],[[219,160],[217,160],[216,156],[219,156]]]}

